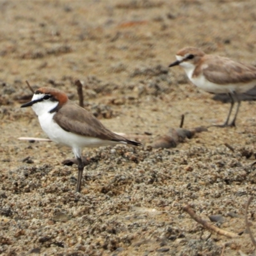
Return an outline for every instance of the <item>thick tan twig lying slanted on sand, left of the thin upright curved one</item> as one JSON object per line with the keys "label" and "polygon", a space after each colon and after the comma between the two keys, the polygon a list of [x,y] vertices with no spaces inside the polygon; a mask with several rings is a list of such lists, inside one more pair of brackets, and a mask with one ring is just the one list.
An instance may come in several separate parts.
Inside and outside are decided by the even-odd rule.
{"label": "thick tan twig lying slanted on sand, left of the thin upright curved one", "polygon": [[191,218],[193,220],[195,220],[196,222],[200,223],[201,225],[203,225],[205,228],[212,230],[214,232],[216,232],[217,234],[221,235],[221,236],[227,236],[230,238],[234,238],[234,237],[239,237],[237,234],[233,233],[233,232],[228,232],[225,231],[223,229],[220,229],[214,225],[211,225],[209,222],[202,220],[202,218],[200,218],[200,216],[196,215],[195,212],[193,211],[193,209],[190,207],[190,205],[186,205],[183,207],[183,211],[188,212],[188,214],[191,216]]}

